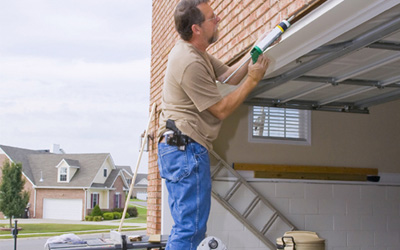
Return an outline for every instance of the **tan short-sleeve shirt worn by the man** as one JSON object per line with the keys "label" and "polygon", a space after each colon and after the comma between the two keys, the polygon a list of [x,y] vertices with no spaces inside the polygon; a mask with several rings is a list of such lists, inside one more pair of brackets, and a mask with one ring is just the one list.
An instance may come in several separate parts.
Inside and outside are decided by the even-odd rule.
{"label": "tan short-sleeve shirt worn by the man", "polygon": [[226,70],[212,55],[179,40],[168,56],[158,136],[171,119],[182,133],[211,149],[222,121],[207,109],[222,99],[216,80]]}

